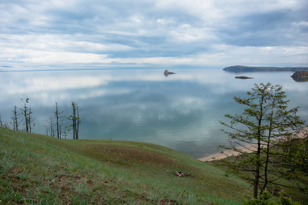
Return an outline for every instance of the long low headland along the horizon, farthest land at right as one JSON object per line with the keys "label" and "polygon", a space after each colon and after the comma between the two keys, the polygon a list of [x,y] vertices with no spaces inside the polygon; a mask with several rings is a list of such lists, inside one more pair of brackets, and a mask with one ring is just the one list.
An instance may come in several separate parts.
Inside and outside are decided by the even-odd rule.
{"label": "long low headland along the horizon, farthest land at right", "polygon": [[229,66],[224,68],[223,70],[228,72],[258,72],[258,71],[308,71],[308,67],[253,67],[253,66]]}

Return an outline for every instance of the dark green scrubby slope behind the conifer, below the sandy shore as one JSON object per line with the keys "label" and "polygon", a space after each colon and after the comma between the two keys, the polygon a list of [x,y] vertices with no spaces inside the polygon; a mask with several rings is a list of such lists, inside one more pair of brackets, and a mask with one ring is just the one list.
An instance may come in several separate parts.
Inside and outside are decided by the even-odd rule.
{"label": "dark green scrubby slope behind the conifer, below the sandy shore", "polygon": [[[248,195],[246,197],[247,202],[263,202],[264,204],[272,204],[269,200],[270,195],[281,197],[282,204],[307,204],[308,202],[308,137],[304,139],[292,139],[290,141],[281,141],[278,146],[270,148],[270,152],[277,153],[271,163],[269,163],[268,169],[275,169],[277,172],[283,173],[281,178],[278,178],[273,183],[270,183],[264,191],[265,194],[261,194],[257,199],[253,199]],[[291,154],[292,153],[292,154]],[[265,154],[262,153],[261,157]],[[220,169],[227,170],[228,174],[233,173],[233,166],[238,166],[240,161],[245,161],[248,156],[242,154],[240,156],[231,156],[227,159],[220,161],[212,161],[211,163],[220,167]],[[283,163],[277,163],[282,161]],[[249,179],[254,177],[253,172],[239,171],[236,173],[240,178]],[[268,178],[277,178],[275,172],[270,172]],[[271,197],[272,198],[272,197]],[[250,199],[250,200],[249,200]],[[272,199],[275,201],[275,199]],[[265,201],[268,201],[265,203]],[[254,203],[252,203],[254,204]],[[261,204],[261,203],[259,203]],[[279,202],[275,202],[279,204]]]}

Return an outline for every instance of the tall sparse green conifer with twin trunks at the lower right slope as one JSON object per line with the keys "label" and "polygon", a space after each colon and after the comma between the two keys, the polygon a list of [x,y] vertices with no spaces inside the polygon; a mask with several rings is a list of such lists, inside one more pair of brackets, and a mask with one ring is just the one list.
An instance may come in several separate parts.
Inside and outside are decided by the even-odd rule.
{"label": "tall sparse green conifer with twin trunks at the lower right slope", "polygon": [[[247,98],[234,96],[233,99],[245,109],[242,115],[226,114],[230,122],[220,122],[228,128],[224,131],[229,135],[229,146],[220,146],[227,150],[240,152],[242,157],[227,163],[233,173],[250,172],[252,177],[245,178],[253,184],[253,196],[257,198],[258,189],[266,190],[269,183],[274,184],[278,178],[283,177],[279,169],[270,167],[272,156],[271,147],[277,139],[292,136],[303,128],[305,121],[300,120],[296,114],[298,107],[287,109],[290,100],[285,100],[286,95],[281,85],[271,83],[255,84],[252,92],[247,92]],[[250,152],[240,149],[240,146],[251,144]]]}

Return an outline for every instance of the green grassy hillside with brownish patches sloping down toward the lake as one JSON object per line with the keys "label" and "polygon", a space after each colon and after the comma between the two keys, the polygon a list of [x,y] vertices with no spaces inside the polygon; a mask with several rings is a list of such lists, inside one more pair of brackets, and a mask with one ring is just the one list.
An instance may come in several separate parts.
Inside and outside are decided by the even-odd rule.
{"label": "green grassy hillside with brownish patches sloping down toward the lake", "polygon": [[0,128],[0,204],[239,204],[248,189],[209,163],[150,143]]}

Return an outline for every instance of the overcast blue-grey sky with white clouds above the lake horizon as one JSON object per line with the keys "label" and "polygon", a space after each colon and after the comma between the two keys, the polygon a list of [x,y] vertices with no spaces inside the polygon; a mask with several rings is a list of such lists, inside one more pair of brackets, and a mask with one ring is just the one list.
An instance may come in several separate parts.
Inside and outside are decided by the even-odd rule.
{"label": "overcast blue-grey sky with white clouds above the lake horizon", "polygon": [[0,0],[0,70],[308,66],[307,0]]}

